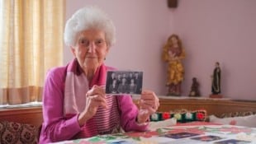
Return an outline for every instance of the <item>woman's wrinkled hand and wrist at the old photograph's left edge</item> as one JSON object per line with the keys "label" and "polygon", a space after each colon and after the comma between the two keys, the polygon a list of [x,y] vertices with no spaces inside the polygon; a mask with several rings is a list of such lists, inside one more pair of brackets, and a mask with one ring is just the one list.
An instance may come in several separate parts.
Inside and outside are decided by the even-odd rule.
{"label": "woman's wrinkled hand and wrist at the old photograph's left edge", "polygon": [[80,126],[92,118],[97,112],[99,106],[107,108],[107,101],[105,98],[105,90],[102,86],[92,86],[92,89],[86,93],[86,105],[83,112],[78,116],[78,123]]}

